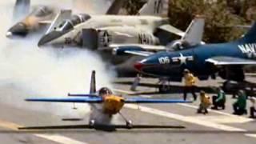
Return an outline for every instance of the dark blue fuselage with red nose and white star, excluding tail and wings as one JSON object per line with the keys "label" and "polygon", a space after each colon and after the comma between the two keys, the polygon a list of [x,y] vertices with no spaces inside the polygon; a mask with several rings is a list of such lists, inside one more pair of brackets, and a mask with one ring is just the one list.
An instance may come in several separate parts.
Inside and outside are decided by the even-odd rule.
{"label": "dark blue fuselage with red nose and white star, excluding tail and wings", "polygon": [[183,70],[189,69],[203,80],[222,68],[206,62],[207,59],[214,57],[256,59],[256,43],[244,44],[238,41],[199,45],[174,52],[159,52],[143,59],[135,67],[144,74],[167,77],[174,81],[181,81]]}

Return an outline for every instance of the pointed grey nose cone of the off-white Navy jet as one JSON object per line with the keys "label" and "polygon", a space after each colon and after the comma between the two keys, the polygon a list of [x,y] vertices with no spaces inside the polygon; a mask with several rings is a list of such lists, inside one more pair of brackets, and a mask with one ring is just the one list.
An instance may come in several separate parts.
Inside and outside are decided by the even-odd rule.
{"label": "pointed grey nose cone of the off-white Navy jet", "polygon": [[54,39],[57,39],[62,35],[63,33],[61,31],[51,31],[50,33],[42,36],[42,38],[38,42],[38,46],[46,45],[47,43],[54,41]]}

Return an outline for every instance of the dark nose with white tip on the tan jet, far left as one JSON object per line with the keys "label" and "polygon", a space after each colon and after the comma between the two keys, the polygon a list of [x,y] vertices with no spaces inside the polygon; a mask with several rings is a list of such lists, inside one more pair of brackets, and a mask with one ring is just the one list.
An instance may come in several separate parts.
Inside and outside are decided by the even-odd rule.
{"label": "dark nose with white tip on the tan jet, far left", "polygon": [[7,31],[6,37],[11,38],[13,36],[25,37],[29,33],[26,25],[22,22],[18,22],[16,25],[12,26],[10,30]]}

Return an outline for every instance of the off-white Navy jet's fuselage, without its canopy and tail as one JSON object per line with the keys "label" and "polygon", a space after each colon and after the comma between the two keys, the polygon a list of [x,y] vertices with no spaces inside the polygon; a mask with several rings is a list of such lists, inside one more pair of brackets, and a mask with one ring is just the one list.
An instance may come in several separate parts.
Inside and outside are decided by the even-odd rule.
{"label": "off-white Navy jet's fuselage, without its canopy and tail", "polygon": [[[95,15],[88,21],[62,32],[57,38],[50,38],[49,36],[50,39],[45,39],[47,39],[47,44],[50,45],[79,45],[82,41],[82,30],[94,29],[98,30],[98,37],[103,41],[102,43],[99,41],[98,46],[105,47],[113,42],[157,44],[158,39],[154,38],[154,30],[158,26],[168,23],[167,18],[154,16]],[[101,31],[107,34],[101,34]]]}

